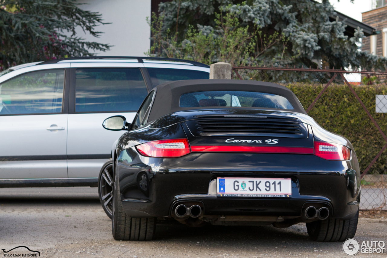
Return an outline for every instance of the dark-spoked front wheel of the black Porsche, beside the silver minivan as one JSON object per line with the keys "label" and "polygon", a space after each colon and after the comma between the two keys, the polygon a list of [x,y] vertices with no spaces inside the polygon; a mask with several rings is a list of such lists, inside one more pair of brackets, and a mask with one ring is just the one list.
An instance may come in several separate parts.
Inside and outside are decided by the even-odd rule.
{"label": "dark-spoked front wheel of the black Porsche, beside the silver minivan", "polygon": [[99,171],[98,196],[109,218],[113,215],[113,160],[108,159]]}

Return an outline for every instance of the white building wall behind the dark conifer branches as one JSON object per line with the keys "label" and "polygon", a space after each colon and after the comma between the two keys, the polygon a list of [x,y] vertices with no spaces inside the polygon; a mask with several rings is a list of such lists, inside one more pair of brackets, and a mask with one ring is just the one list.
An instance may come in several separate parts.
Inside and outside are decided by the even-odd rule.
{"label": "white building wall behind the dark conifer branches", "polygon": [[87,41],[96,41],[114,45],[106,52],[95,52],[97,55],[109,56],[144,56],[150,47],[150,28],[146,17],[151,16],[151,0],[79,0],[84,10],[99,12],[104,22],[96,31],[103,32],[99,38],[77,31],[77,36]]}

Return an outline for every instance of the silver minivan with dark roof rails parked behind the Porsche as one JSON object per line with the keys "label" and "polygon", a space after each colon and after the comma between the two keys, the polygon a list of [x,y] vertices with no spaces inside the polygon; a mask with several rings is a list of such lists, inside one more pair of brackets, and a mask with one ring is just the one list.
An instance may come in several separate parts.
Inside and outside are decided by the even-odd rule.
{"label": "silver minivan with dark roof rails parked behind the Porsche", "polygon": [[97,186],[122,131],[149,91],[168,81],[209,79],[209,66],[151,57],[79,57],[0,73],[0,187]]}

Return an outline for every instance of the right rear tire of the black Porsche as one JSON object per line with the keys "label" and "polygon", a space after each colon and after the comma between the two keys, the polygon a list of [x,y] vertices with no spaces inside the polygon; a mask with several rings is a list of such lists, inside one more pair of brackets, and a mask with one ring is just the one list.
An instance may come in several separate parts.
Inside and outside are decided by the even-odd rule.
{"label": "right rear tire of the black Porsche", "polygon": [[314,241],[344,241],[353,238],[358,227],[359,210],[349,220],[328,218],[307,223],[310,239]]}

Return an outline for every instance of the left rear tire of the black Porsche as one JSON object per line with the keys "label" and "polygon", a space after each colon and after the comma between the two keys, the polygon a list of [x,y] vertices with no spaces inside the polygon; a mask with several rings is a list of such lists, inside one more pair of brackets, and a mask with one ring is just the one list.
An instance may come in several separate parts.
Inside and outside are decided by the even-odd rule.
{"label": "left rear tire of the black Porsche", "polygon": [[156,218],[132,218],[128,216],[122,208],[117,175],[115,175],[115,179],[113,218],[111,220],[113,238],[115,240],[152,240],[156,233]]}

